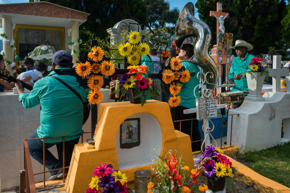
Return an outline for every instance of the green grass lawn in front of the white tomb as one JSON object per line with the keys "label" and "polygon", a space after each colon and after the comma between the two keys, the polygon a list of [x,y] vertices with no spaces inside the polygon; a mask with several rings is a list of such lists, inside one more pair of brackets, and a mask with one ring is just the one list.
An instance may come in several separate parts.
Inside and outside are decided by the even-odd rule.
{"label": "green grass lawn in front of the white tomb", "polygon": [[290,142],[240,156],[255,172],[290,188]]}

